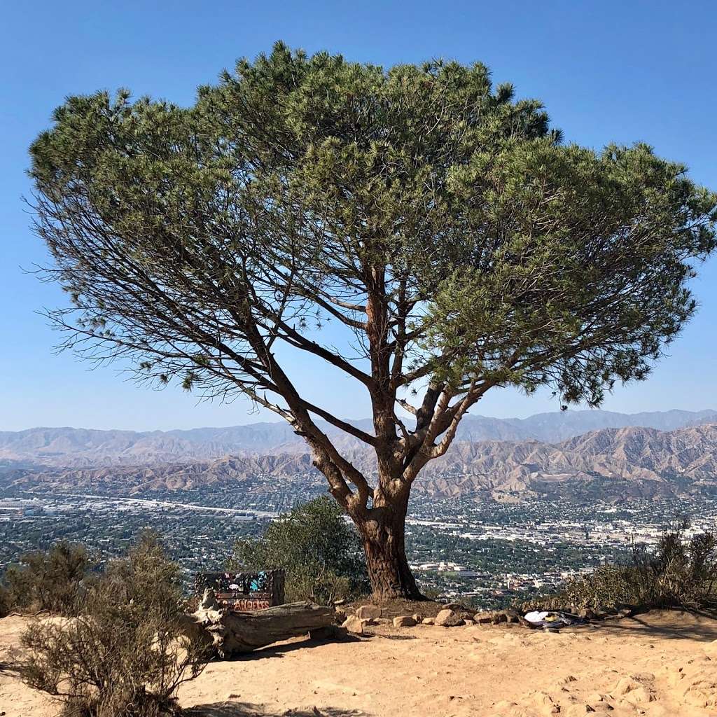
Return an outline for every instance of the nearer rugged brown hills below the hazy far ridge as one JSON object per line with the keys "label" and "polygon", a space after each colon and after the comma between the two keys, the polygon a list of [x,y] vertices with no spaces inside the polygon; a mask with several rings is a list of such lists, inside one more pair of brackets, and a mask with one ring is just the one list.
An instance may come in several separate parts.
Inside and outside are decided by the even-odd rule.
{"label": "nearer rugged brown hills below the hazy far ridge", "polygon": [[[374,472],[367,450],[348,457],[366,475]],[[273,477],[274,480],[267,480]],[[186,464],[52,468],[6,472],[3,482],[42,490],[85,490],[138,495],[208,485],[248,492],[280,490],[282,482],[323,485],[305,453],[224,457]],[[440,497],[585,496],[612,500],[628,495],[717,495],[717,422],[675,431],[607,428],[556,444],[536,440],[456,442],[430,462],[414,487]]]}

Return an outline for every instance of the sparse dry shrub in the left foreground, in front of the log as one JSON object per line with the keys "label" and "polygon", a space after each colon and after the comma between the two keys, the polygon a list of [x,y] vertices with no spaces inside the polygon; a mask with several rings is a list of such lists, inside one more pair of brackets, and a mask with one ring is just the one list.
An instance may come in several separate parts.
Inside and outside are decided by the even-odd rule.
{"label": "sparse dry shrub in the left foreground, in front of the log", "polygon": [[67,717],[176,714],[179,685],[209,658],[186,633],[183,605],[178,567],[145,535],[87,588],[75,617],[28,628],[22,679],[62,697]]}

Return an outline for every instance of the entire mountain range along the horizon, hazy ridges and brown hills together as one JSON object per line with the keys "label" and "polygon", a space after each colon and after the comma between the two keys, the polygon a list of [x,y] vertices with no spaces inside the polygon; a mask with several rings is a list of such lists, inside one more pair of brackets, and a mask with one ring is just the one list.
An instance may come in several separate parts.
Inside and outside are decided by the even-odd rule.
{"label": "entire mountain range along the horizon, hazy ridges and brown hills together", "polygon": [[[651,422],[653,427],[625,425],[629,422]],[[594,423],[609,427],[581,431]],[[419,475],[417,493],[502,500],[527,495],[619,500],[628,495],[717,494],[716,412],[565,412],[522,421],[468,417],[466,424],[447,454]],[[483,439],[487,434],[493,437]],[[516,434],[521,438],[516,440]],[[565,434],[569,437],[563,440],[536,438]],[[367,450],[353,439],[346,439],[342,448],[354,465],[373,473]],[[212,485],[252,493],[277,481],[323,482],[303,442],[290,428],[270,423],[149,433],[1,433],[0,461],[5,485],[115,495]]]}

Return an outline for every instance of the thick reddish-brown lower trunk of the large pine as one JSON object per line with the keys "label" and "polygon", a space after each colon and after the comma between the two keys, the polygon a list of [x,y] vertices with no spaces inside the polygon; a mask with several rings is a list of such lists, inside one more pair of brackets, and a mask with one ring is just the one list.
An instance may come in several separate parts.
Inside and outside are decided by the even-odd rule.
{"label": "thick reddish-brown lower trunk of the large pine", "polygon": [[371,508],[366,518],[356,521],[366,551],[366,565],[373,599],[422,600],[408,566],[405,522],[408,499],[381,508]]}

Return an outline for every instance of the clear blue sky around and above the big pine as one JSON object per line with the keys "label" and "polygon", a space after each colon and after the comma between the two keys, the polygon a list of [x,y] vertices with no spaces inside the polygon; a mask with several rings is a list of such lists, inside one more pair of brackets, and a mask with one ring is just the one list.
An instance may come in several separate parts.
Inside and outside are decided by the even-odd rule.
{"label": "clear blue sky around and above the big pine", "polygon": [[[45,260],[29,232],[27,146],[66,95],[129,87],[191,103],[237,57],[277,39],[308,52],[392,65],[450,57],[480,60],[519,96],[543,100],[568,141],[599,147],[646,141],[717,188],[713,50],[717,4],[660,1],[545,3],[364,1],[248,3],[214,0],[8,3],[0,36],[0,430],[72,425],[167,429],[264,418],[243,402],[196,404],[179,389],[151,391],[112,368],[90,371],[52,353],[57,336],[36,312],[64,298],[22,271]],[[717,408],[717,259],[694,284],[701,303],[670,356],[643,384],[619,387],[604,408],[637,412]],[[368,414],[347,381],[293,364],[315,402]],[[485,397],[498,417],[554,410],[548,392]]]}

